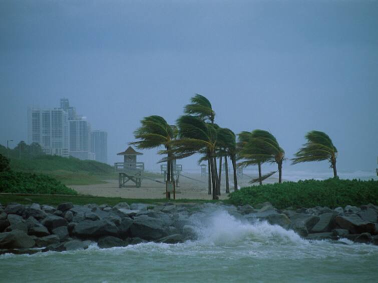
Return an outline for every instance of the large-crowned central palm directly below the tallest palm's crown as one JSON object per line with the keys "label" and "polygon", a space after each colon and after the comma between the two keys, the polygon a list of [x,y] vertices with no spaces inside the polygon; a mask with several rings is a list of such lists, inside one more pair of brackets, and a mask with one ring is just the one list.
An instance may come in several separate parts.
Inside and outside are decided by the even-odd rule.
{"label": "large-crowned central palm directly below the tallest palm's crown", "polygon": [[184,115],[177,119],[178,136],[172,140],[171,153],[181,159],[195,153],[204,153],[210,163],[213,199],[217,199],[215,176],[215,146],[217,131],[211,123],[204,122],[199,116]]}

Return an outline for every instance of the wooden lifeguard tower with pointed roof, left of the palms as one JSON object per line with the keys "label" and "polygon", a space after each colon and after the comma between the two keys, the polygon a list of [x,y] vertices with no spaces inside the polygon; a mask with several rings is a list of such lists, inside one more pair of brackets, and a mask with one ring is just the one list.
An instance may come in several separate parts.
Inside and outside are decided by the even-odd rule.
{"label": "wooden lifeguard tower with pointed roof, left of the palms", "polygon": [[119,152],[117,155],[124,156],[123,162],[114,163],[114,168],[119,173],[119,187],[126,187],[128,181],[132,181],[136,187],[140,187],[144,162],[137,162],[137,155],[143,155],[143,153],[135,151],[133,147],[129,146],[125,151]]}

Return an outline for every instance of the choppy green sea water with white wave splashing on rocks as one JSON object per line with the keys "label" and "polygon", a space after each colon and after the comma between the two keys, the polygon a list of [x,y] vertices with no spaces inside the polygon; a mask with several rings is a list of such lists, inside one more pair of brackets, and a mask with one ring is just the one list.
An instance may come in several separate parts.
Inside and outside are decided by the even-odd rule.
{"label": "choppy green sea water with white wave splashing on rocks", "polygon": [[0,255],[1,282],[371,282],[378,246],[308,241],[209,205],[190,217],[198,239]]}

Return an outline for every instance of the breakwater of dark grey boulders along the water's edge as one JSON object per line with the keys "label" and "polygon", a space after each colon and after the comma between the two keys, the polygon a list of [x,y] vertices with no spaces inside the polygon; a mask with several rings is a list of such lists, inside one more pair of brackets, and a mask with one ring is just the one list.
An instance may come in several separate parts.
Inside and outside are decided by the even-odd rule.
{"label": "breakwater of dark grey boulders along the water's edge", "polygon": [[280,225],[307,239],[348,238],[354,242],[378,244],[378,207],[373,204],[279,210],[268,202],[255,207],[173,203],[129,205],[126,202],[113,207],[69,202],[53,207],[12,203],[0,205],[0,254],[85,249],[92,242],[104,248],[143,241],[183,242],[196,239],[198,227],[192,217],[197,212],[203,213],[206,207],[225,209],[244,222],[267,221]]}

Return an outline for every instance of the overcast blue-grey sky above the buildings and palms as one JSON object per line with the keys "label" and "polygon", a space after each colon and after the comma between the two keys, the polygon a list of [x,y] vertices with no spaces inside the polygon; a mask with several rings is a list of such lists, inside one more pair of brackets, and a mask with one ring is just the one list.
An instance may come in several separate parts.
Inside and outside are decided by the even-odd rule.
{"label": "overcast blue-grey sky above the buildings and palms", "polygon": [[[143,116],[174,123],[195,93],[220,126],[267,129],[288,158],[317,129],[339,170],[373,171],[378,2],[0,0],[2,144],[27,140],[29,105],[67,97],[108,131],[114,162]],[[141,156],[147,169],[158,168],[156,151]]]}

